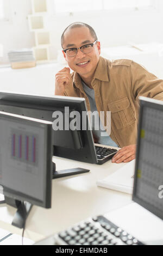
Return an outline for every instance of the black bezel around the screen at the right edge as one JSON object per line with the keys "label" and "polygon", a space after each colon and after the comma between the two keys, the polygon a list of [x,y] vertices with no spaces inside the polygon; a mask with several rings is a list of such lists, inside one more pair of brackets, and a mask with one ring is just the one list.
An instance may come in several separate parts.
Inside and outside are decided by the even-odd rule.
{"label": "black bezel around the screen at the right edge", "polygon": [[[145,97],[140,97],[140,111],[139,111],[139,125],[138,125],[138,132],[137,132],[137,146],[136,146],[136,162],[135,162],[135,172],[134,172],[134,188],[133,188],[133,195],[132,195],[132,200],[139,205],[143,206],[143,208],[149,210],[152,212],[152,214],[158,216],[163,220],[163,211],[161,212],[160,210],[155,209],[154,206],[149,205],[145,201],[141,200],[136,196],[136,185],[137,185],[137,168],[139,166],[139,153],[140,153],[140,140],[141,140],[141,126],[142,126],[142,118],[143,118],[143,109],[144,107],[151,107],[154,109],[159,109],[163,111],[163,104],[162,102],[159,102],[156,100],[155,102],[149,100],[148,98]],[[158,190],[159,193],[159,190]],[[160,199],[161,200],[161,199]]]}

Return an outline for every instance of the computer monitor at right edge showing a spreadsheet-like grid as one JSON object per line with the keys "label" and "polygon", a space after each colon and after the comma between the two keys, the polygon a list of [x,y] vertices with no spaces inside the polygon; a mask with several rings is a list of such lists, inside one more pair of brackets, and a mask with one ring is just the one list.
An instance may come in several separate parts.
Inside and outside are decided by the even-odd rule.
{"label": "computer monitor at right edge showing a spreadsheet-like grid", "polygon": [[163,220],[163,102],[140,97],[133,200]]}

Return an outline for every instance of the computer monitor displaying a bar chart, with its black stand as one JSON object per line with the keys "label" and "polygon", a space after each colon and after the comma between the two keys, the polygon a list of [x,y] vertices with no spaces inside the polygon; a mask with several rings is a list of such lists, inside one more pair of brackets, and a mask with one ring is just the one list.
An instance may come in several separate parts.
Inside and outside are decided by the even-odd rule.
{"label": "computer monitor displaying a bar chart, with its black stand", "polygon": [[0,112],[0,127],[0,185],[22,228],[32,205],[51,208],[52,122]]}

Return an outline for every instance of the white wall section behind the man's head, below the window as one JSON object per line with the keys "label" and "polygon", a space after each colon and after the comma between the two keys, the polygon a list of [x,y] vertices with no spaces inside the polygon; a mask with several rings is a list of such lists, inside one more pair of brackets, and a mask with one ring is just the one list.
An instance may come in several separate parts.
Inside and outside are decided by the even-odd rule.
{"label": "white wall section behind the man's head, below the window", "polygon": [[[123,1],[123,0],[122,0]],[[75,21],[82,21],[91,25],[101,41],[102,47],[127,45],[129,41],[137,44],[151,41],[163,42],[161,25],[163,23],[163,1],[159,3],[158,11],[110,13],[103,14],[81,14],[74,16],[49,17],[47,24],[52,32],[54,42],[53,55],[60,48],[60,37],[64,29]]]}

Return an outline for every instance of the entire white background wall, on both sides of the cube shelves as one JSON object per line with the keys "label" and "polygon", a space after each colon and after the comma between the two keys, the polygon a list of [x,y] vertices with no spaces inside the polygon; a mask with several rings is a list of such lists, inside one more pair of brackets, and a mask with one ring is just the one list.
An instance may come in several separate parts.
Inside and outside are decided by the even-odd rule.
{"label": "entire white background wall, on both sides of the cube shelves", "polygon": [[[129,41],[147,43],[158,41],[163,43],[163,1],[157,11],[135,11],[131,13],[109,13],[108,15],[79,14],[54,16],[53,0],[48,1],[49,14],[46,17],[46,28],[52,34],[50,46],[51,59],[57,58],[61,50],[60,37],[64,29],[74,21],[89,23],[97,32],[102,47],[126,45]],[[34,33],[29,32],[27,16],[32,14],[30,0],[10,0],[10,22],[0,22],[0,43],[4,45],[4,56],[1,62],[7,62],[9,50],[32,47],[35,44]]]}

